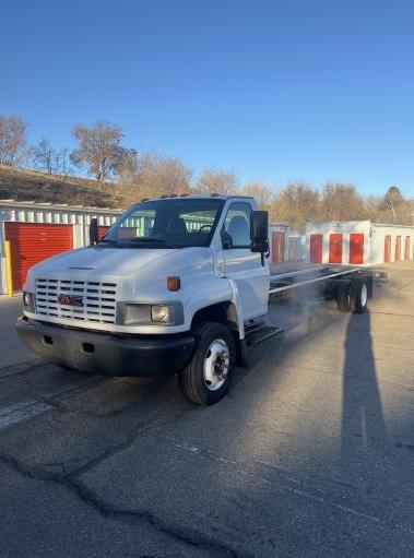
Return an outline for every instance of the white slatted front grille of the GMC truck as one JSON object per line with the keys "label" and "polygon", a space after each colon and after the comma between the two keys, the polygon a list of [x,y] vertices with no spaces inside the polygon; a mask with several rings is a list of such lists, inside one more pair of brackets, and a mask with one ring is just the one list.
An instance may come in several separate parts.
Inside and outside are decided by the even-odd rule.
{"label": "white slatted front grille of the GMC truck", "polygon": [[[36,313],[66,320],[115,323],[116,287],[115,283],[38,278]],[[75,297],[80,306],[60,304],[59,297]]]}

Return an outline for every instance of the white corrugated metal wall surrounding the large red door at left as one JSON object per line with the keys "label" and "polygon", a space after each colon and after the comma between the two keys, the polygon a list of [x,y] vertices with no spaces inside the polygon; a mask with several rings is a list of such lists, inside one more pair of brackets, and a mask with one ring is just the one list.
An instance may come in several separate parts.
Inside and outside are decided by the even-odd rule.
{"label": "white corrugated metal wall surrounding the large red door at left", "polygon": [[7,293],[4,222],[73,225],[73,248],[81,248],[88,244],[92,217],[97,217],[99,226],[110,226],[120,213],[121,210],[0,200],[0,294]]}

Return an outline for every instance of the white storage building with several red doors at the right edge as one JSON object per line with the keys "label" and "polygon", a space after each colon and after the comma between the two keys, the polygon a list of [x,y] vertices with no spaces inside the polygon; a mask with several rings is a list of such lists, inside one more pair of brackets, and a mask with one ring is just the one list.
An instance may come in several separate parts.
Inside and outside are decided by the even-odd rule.
{"label": "white storage building with several red doors at the right edge", "polygon": [[414,227],[370,221],[308,223],[307,261],[368,265],[414,258]]}

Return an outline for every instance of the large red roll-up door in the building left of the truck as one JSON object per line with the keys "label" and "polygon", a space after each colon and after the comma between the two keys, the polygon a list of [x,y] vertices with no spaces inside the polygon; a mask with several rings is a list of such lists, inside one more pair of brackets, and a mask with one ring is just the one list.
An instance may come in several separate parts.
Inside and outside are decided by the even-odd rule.
{"label": "large red roll-up door in the building left of the truck", "polygon": [[13,290],[23,288],[28,268],[73,248],[72,225],[4,223],[4,229],[10,241]]}

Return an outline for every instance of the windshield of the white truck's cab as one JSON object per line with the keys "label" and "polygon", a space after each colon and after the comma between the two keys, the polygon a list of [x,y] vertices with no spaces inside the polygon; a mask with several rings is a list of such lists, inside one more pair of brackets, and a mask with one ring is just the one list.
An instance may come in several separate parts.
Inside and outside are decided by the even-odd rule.
{"label": "windshield of the white truck's cab", "polygon": [[100,245],[119,248],[209,246],[223,200],[175,198],[142,202],[128,210]]}

